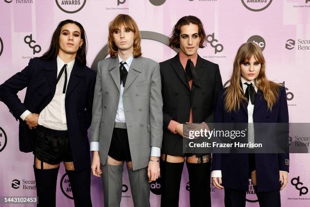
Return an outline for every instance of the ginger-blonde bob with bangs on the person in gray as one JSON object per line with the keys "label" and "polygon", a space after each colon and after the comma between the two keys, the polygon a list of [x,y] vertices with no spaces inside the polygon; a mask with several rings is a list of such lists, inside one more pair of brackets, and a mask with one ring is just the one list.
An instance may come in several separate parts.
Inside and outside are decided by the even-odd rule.
{"label": "ginger-blonde bob with bangs on the person in gray", "polygon": [[119,14],[115,19],[113,19],[109,24],[109,36],[108,36],[108,43],[109,43],[109,54],[111,57],[118,56],[118,47],[115,45],[113,40],[113,33],[120,29],[120,27],[124,25],[124,27],[132,32],[134,32],[134,57],[139,57],[142,55],[141,53],[141,35],[138,28],[137,23],[133,18],[127,14]]}

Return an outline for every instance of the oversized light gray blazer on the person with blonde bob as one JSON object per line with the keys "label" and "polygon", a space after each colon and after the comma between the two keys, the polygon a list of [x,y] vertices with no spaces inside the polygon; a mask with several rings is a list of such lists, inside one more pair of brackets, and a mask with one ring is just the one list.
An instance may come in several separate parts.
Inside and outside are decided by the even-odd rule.
{"label": "oversized light gray blazer on the person with blonde bob", "polygon": [[[120,99],[118,58],[98,63],[93,101],[91,141],[99,142],[100,162],[105,164]],[[163,99],[159,63],[134,58],[126,79],[123,105],[133,170],[148,165],[151,146],[162,146]]]}

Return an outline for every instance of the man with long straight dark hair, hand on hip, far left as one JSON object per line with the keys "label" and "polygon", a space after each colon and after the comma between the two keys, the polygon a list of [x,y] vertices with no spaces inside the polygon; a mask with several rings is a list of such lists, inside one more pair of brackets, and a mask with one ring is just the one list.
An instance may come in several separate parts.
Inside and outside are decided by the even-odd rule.
{"label": "man with long straight dark hair, hand on hip, far left", "polygon": [[[75,206],[92,206],[87,129],[95,72],[86,66],[86,34],[76,21],[60,22],[49,50],[0,86],[0,97],[19,123],[19,148],[34,154],[38,206],[56,205],[64,162]],[[17,92],[26,88],[22,103]]]}

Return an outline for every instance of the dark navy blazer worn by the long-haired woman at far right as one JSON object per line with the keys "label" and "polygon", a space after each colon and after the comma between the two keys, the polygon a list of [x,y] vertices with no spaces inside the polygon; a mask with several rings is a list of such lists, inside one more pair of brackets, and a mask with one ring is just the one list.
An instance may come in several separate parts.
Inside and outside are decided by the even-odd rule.
{"label": "dark navy blazer worn by the long-haired woman at far right", "polygon": [[[221,90],[215,108],[216,123],[248,123],[248,103],[243,101],[237,112],[227,113],[224,110],[225,96]],[[253,111],[254,123],[288,123],[286,91],[280,87],[280,94],[272,111],[268,110],[267,102],[260,90],[257,91]],[[257,137],[255,137],[257,139]],[[258,191],[279,190],[279,170],[289,171],[289,153],[255,154],[256,179]],[[236,190],[249,189],[248,154],[213,154],[212,171],[222,171],[222,185]]]}

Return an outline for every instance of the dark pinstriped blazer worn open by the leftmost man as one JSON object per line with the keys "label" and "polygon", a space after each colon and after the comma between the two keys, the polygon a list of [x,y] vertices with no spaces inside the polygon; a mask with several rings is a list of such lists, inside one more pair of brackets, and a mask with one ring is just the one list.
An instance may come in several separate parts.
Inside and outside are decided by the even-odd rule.
{"label": "dark pinstriped blazer worn open by the leftmost man", "polygon": [[[30,59],[28,66],[0,86],[0,98],[10,112],[19,120],[19,149],[32,152],[36,130],[30,130],[20,119],[29,110],[40,112],[52,100],[56,90],[57,60]],[[92,119],[92,103],[96,74],[89,67],[74,62],[65,96],[65,109],[70,147],[74,168],[80,170],[90,167],[89,141],[87,129]],[[22,103],[17,92],[27,87]]]}

